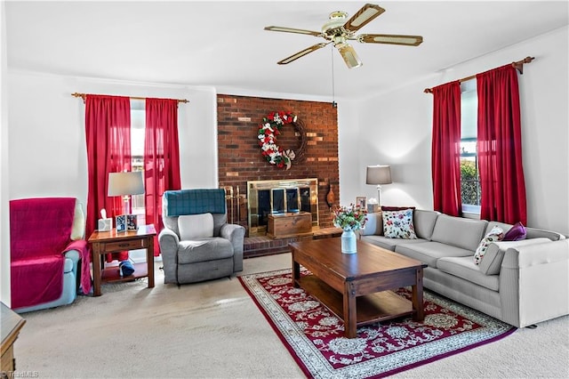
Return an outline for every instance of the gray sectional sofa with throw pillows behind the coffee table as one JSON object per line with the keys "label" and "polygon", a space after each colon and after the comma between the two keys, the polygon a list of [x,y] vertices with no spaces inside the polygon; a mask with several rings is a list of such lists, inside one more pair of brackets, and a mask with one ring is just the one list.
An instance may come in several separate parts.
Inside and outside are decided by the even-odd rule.
{"label": "gray sectional sofa with throw pillows behind the coffee table", "polygon": [[423,285],[515,327],[569,314],[569,238],[526,228],[520,241],[493,242],[479,265],[477,246],[498,225],[414,210],[417,239],[385,238],[380,213],[368,214],[360,238],[427,263]]}

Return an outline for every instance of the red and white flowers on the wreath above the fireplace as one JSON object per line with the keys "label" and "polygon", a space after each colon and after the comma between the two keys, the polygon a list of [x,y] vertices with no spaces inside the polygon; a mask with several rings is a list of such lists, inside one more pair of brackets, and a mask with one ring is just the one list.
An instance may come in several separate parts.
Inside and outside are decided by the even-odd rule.
{"label": "red and white flowers on the wreath above the fireplace", "polygon": [[291,168],[295,157],[293,150],[283,150],[276,144],[276,136],[280,134],[280,129],[286,124],[292,124],[296,121],[296,116],[291,112],[271,112],[263,117],[263,122],[259,126],[259,146],[261,154],[268,163],[276,165],[278,168]]}

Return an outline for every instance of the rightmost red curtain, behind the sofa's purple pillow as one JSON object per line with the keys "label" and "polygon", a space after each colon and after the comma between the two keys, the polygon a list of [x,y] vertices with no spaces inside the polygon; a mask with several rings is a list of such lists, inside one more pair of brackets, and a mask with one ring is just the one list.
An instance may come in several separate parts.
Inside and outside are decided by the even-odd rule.
{"label": "rightmost red curtain, behind the sofa's purple pillow", "polygon": [[477,75],[480,218],[526,224],[517,72],[511,65]]}

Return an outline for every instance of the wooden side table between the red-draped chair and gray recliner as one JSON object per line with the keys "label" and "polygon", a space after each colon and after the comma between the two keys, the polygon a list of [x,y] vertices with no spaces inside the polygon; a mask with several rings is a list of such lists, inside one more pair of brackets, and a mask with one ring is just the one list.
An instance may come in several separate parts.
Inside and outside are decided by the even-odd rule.
{"label": "wooden side table between the red-draped chair and gray recliner", "polygon": [[[138,230],[95,230],[88,239],[92,246],[93,295],[100,296],[101,282],[124,282],[148,277],[148,288],[154,287],[154,225],[140,225]],[[146,264],[134,264],[134,273],[121,277],[117,267],[104,269],[101,259],[107,253],[146,249]]]}

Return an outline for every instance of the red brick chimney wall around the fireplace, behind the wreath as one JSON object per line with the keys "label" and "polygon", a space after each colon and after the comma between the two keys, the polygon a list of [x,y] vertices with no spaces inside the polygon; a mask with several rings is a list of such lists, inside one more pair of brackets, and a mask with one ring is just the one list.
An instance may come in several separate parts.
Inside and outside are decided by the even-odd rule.
{"label": "red brick chimney wall around the fireplace, behind the wreath", "polygon": [[[232,187],[234,222],[247,227],[247,181],[318,179],[320,228],[333,226],[326,195],[332,185],[335,204],[340,198],[338,170],[338,114],[329,102],[267,99],[217,95],[220,187]],[[304,125],[307,145],[301,161],[293,160],[289,170],[271,165],[261,155],[257,138],[263,117],[271,112],[290,111]],[[297,150],[300,137],[293,125],[284,125],[276,144]],[[237,199],[237,189],[240,198]],[[237,207],[239,209],[237,210]],[[237,217],[238,215],[238,217]],[[228,210],[228,218],[231,217]]]}

